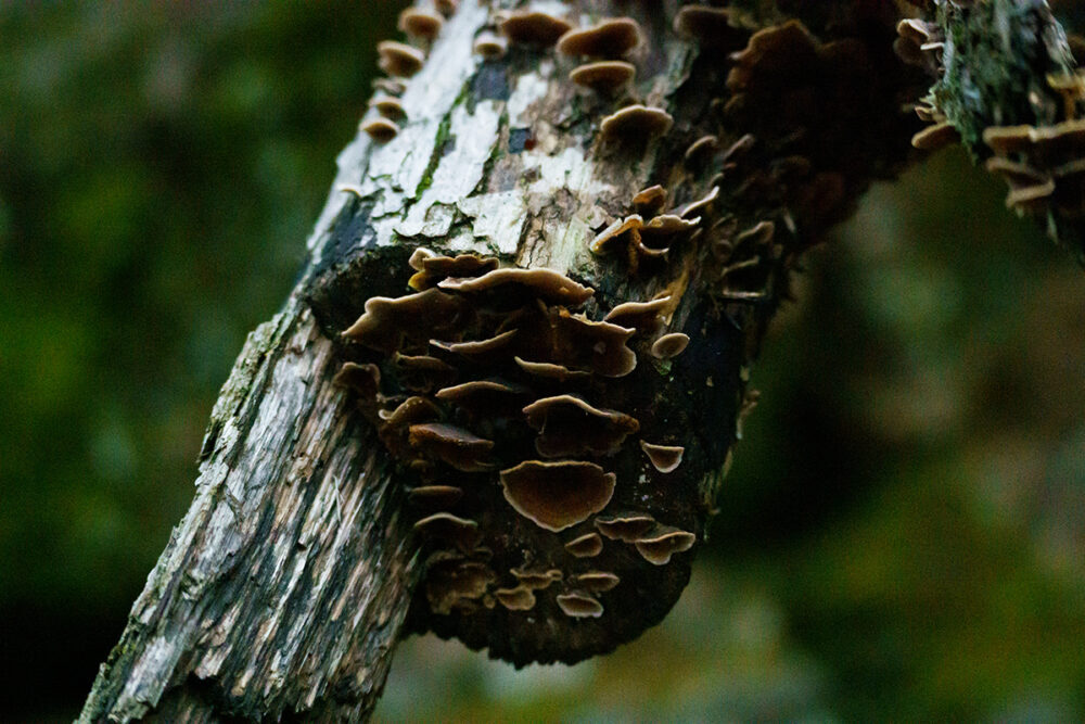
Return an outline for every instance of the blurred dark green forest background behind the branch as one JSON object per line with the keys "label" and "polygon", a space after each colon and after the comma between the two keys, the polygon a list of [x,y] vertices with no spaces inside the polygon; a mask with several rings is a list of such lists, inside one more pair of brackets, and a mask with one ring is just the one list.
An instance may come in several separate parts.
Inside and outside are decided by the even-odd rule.
{"label": "blurred dark green forest background behind the branch", "polygon": [[[0,721],[65,721],[192,495],[399,3],[0,4]],[[398,653],[381,721],[1085,716],[1085,278],[959,152],[809,258],[667,621]]]}

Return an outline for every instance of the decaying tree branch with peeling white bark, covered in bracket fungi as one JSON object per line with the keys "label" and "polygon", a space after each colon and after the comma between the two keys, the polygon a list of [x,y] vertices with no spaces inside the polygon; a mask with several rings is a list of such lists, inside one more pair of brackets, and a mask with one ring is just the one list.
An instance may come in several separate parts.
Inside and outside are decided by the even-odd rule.
{"label": "decaying tree branch with peeling white bark, covered in bracket fungi", "polygon": [[[224,388],[82,721],[359,721],[407,632],[574,662],[661,620],[789,275],[905,163],[930,84],[892,0],[456,5],[382,47],[405,78]],[[929,115],[974,144],[943,60]]]}

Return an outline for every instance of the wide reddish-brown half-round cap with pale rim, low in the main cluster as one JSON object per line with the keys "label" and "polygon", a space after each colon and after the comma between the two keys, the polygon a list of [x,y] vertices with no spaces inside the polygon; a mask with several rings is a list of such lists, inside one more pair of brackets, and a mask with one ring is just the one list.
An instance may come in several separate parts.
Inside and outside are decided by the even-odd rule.
{"label": "wide reddish-brown half-round cap with pale rim, low in the main cluster", "polygon": [[539,528],[561,531],[607,507],[615,475],[591,462],[527,460],[501,471],[505,499]]}

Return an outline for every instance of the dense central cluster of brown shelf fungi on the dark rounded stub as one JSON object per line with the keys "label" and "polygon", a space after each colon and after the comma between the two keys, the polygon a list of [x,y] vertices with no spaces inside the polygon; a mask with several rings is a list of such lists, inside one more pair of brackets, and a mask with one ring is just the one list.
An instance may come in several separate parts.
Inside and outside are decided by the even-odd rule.
{"label": "dense central cluster of brown shelf fungi on the dark rounded stub", "polygon": [[612,461],[629,470],[636,456],[634,469],[660,475],[682,461],[680,445],[644,436],[636,417],[607,406],[621,402],[638,350],[660,365],[686,348],[685,334],[661,333],[671,299],[592,320],[578,309],[593,290],[549,269],[424,247],[409,264],[411,293],[368,300],[343,332],[379,361],[346,363],[337,382],[416,481],[408,501],[431,548],[431,610],[531,611],[552,589],[565,617],[601,617],[600,594],[621,580],[613,564],[629,568],[603,555],[608,541],[641,566],[665,566],[697,539],[647,509],[611,511],[615,499],[634,503],[633,481],[609,471]]}

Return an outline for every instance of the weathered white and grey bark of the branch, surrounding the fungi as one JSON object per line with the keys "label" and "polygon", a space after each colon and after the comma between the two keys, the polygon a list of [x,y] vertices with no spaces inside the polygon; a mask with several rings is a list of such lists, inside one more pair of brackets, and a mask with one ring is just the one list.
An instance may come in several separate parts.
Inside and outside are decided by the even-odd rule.
{"label": "weathered white and grey bark of the branch, surrounding the fungi", "polygon": [[[359,134],[342,154],[307,267],[283,310],[250,336],[222,390],[196,496],[81,721],[363,720],[412,601],[411,627],[493,645],[485,632],[443,630],[424,610],[407,475],[332,384],[344,359],[372,357],[343,345],[340,332],[366,300],[403,294],[419,245],[570,274],[596,290],[592,313],[661,290],[679,297],[668,330],[693,338],[679,358],[688,361],[672,374],[642,359],[636,380],[665,391],[689,428],[679,431],[691,450],[686,484],[704,510],[684,503],[681,515],[703,537],[749,402],[746,368],[788,275],[870,179],[904,163],[917,127],[902,107],[924,90],[892,53],[892,0],[736,4],[745,11],[735,18],[737,40],[700,52],[672,30],[675,2],[545,5],[585,23],[618,14],[640,22],[633,92],[675,126],[634,153],[598,139],[600,119],[621,99],[575,91],[566,79],[573,63],[552,50],[512,48],[481,62],[472,43],[497,8],[461,3],[407,85],[399,135],[380,145]],[[792,17],[813,36],[787,26]],[[782,62],[748,54],[728,87],[729,53],[763,27],[787,40],[773,50]],[[705,135],[720,150],[741,143],[694,165],[684,156]],[[621,256],[592,255],[596,233],[631,214],[631,196],[653,183],[673,205],[718,185],[701,240],[676,245],[651,275],[633,274]],[[761,245],[736,258],[748,230]],[[688,560],[674,570],[665,583],[677,596]],[[646,612],[641,627],[666,608]],[[596,631],[583,650],[607,650],[638,631],[610,639]],[[502,656],[521,660],[514,647]]]}

